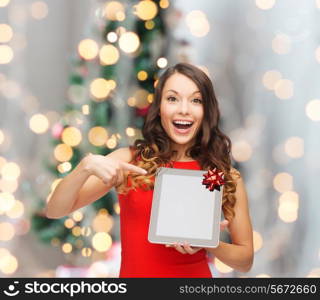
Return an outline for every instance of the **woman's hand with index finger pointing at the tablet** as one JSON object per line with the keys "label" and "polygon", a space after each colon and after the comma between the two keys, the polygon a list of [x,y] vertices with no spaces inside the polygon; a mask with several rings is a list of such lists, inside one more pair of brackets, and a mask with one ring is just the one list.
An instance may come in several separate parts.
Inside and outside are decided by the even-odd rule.
{"label": "woman's hand with index finger pointing at the tablet", "polygon": [[84,169],[90,175],[95,175],[100,178],[103,183],[112,186],[118,186],[124,181],[125,172],[135,172],[141,175],[148,173],[145,169],[126,163],[115,157],[98,154],[89,153],[84,157],[82,163]]}

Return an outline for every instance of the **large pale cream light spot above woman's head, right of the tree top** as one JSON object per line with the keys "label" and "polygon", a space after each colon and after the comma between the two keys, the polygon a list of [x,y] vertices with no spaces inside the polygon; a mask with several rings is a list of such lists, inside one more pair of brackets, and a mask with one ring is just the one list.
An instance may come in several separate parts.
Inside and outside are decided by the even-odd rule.
{"label": "large pale cream light spot above woman's head, right of the tree top", "polygon": [[186,23],[192,35],[203,37],[208,34],[210,24],[201,10],[193,10],[186,16]]}

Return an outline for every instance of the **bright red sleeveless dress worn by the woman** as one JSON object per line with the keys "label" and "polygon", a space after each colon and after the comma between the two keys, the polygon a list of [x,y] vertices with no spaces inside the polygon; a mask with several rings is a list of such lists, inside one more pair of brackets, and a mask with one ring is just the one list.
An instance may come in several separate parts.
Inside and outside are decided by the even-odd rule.
{"label": "bright red sleeveless dress worn by the woman", "polygon": [[[173,162],[177,169],[200,170],[197,161]],[[128,180],[130,186],[130,180]],[[205,249],[182,254],[173,247],[148,241],[153,190],[137,188],[118,194],[120,204],[121,267],[119,277],[212,278]]]}

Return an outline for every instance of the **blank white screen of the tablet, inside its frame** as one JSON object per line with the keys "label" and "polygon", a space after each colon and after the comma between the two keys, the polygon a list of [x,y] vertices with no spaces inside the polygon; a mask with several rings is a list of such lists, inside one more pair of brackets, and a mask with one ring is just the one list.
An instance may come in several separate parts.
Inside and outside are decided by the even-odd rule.
{"label": "blank white screen of the tablet, inside its frame", "polygon": [[215,193],[200,176],[162,175],[157,235],[211,239]]}

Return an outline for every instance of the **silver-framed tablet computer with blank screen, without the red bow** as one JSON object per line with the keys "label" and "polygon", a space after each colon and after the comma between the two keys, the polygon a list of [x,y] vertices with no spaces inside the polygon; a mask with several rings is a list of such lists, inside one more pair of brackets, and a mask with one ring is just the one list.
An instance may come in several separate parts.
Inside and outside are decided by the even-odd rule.
{"label": "silver-framed tablet computer with blank screen, without the red bow", "polygon": [[208,171],[161,167],[153,191],[148,240],[157,244],[187,242],[219,245],[223,185],[210,191],[202,184]]}

